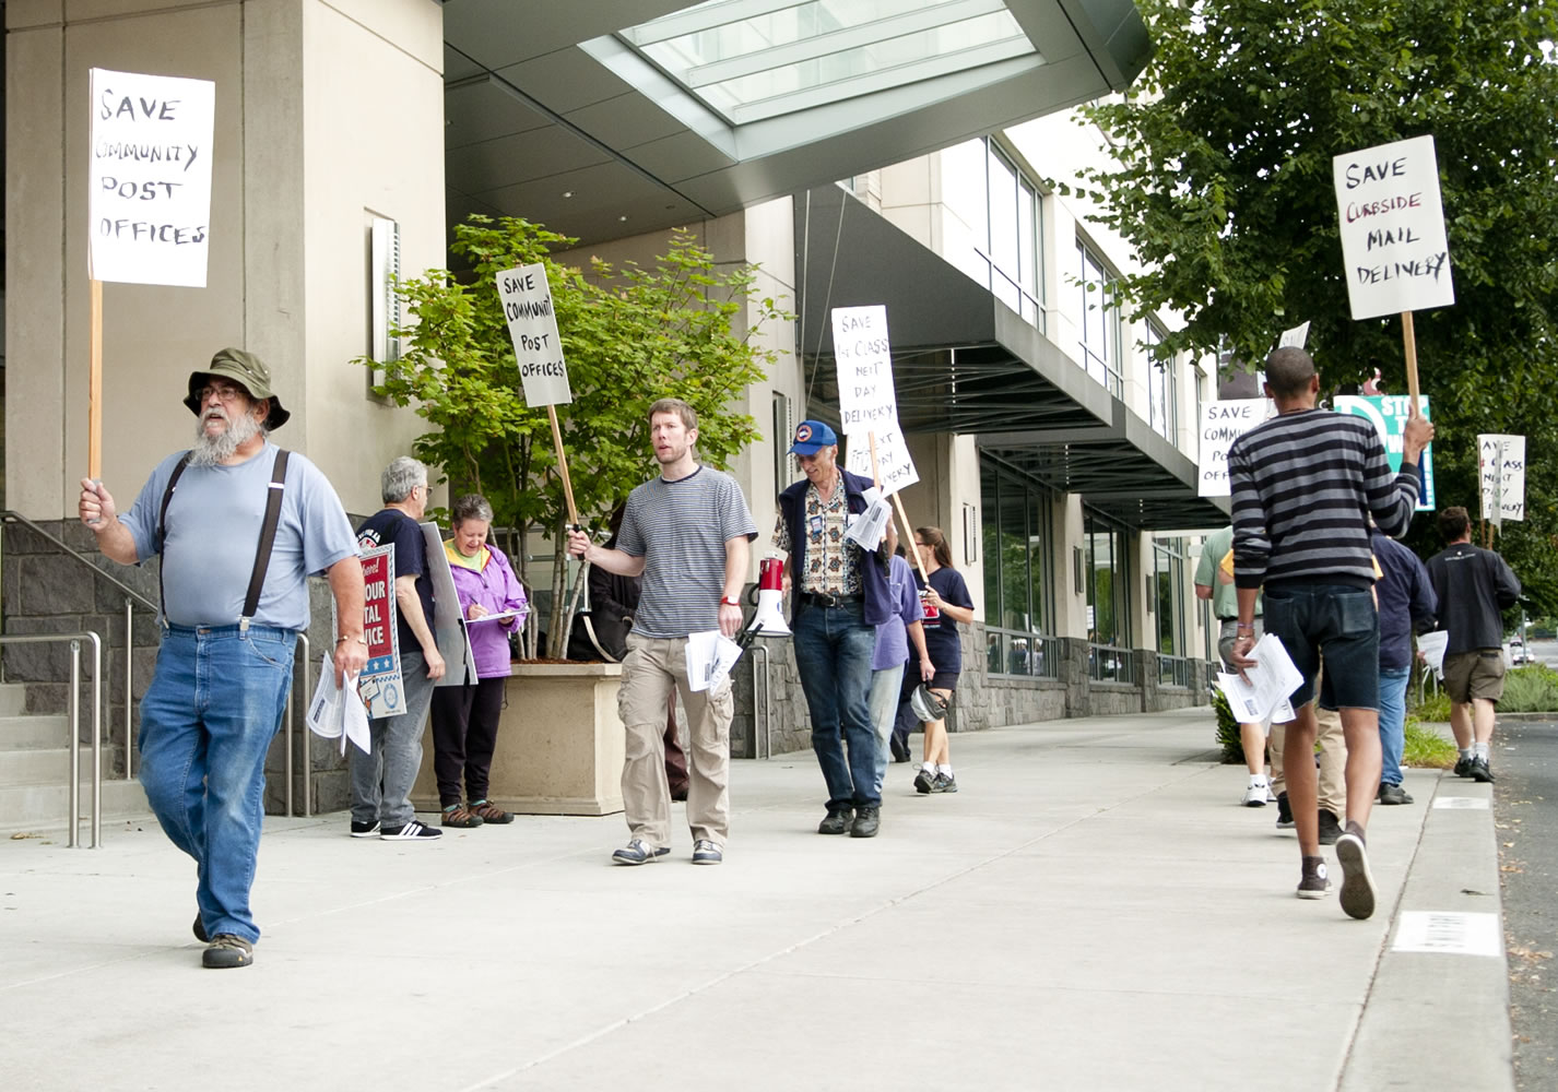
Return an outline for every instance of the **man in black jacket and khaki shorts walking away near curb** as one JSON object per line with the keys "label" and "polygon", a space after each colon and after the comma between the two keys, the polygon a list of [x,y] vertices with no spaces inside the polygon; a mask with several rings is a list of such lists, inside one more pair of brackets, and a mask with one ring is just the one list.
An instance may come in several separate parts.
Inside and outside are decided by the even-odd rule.
{"label": "man in black jacket and khaki shorts walking away near curb", "polygon": [[1429,559],[1429,579],[1440,600],[1444,646],[1444,690],[1450,696],[1450,731],[1460,760],[1457,777],[1493,780],[1488,746],[1493,713],[1503,696],[1503,620],[1514,606],[1521,581],[1493,550],[1471,544],[1471,516],[1465,508],[1440,513],[1440,534],[1449,545]]}

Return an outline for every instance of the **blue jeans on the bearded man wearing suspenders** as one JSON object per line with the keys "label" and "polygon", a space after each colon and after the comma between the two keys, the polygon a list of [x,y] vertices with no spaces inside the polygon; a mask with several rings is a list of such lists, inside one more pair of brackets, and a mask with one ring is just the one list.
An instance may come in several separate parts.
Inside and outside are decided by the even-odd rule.
{"label": "blue jeans on the bearded man wearing suspenders", "polygon": [[209,936],[251,944],[249,888],[265,815],[265,754],[291,689],[290,629],[173,626],[140,699],[140,784],[164,833],[195,858]]}

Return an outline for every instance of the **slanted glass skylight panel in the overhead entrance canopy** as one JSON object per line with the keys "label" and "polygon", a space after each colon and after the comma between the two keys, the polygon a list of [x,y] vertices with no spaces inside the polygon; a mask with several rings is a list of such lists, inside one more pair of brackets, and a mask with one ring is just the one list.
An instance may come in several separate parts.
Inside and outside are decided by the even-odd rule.
{"label": "slanted glass skylight panel in the overhead entrance canopy", "polygon": [[709,0],[620,39],[732,125],[1039,59],[1005,0]]}

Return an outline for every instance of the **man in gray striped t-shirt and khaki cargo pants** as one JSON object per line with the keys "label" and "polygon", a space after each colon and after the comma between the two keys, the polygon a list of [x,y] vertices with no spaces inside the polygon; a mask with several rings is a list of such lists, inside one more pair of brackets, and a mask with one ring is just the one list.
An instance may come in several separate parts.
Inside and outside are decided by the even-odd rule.
{"label": "man in gray striped t-shirt and khaki cargo pants", "polygon": [[612,854],[643,865],[670,852],[671,794],[665,780],[665,707],[673,689],[687,709],[687,826],[693,865],[718,865],[729,832],[731,679],[704,690],[687,681],[687,636],[742,626],[751,541],[757,525],[740,486],[693,458],[698,414],[679,399],[650,407],[661,477],[628,497],[617,548],[569,531],[569,553],[623,576],[643,576],[643,595],[622,660],[617,712],[626,729],[622,804],[631,840]]}

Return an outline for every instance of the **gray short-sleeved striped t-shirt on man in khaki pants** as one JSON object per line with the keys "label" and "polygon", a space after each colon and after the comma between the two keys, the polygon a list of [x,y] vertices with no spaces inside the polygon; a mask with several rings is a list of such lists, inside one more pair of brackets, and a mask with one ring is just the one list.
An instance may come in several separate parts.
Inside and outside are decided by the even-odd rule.
{"label": "gray short-sleeved striped t-shirt on man in khaki pants", "polygon": [[617,548],[643,558],[643,595],[633,632],[686,637],[720,628],[724,544],[757,537],[735,478],[700,466],[686,478],[654,478],[628,494]]}

